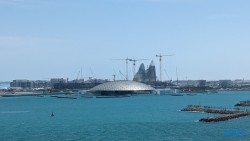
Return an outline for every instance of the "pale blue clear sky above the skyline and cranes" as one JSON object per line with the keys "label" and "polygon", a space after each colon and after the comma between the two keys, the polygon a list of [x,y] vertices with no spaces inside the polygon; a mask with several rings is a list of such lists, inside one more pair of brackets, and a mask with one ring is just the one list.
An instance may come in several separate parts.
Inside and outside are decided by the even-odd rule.
{"label": "pale blue clear sky above the skyline and cranes", "polygon": [[[0,81],[250,79],[249,0],[0,0]],[[129,79],[133,77],[128,64]],[[177,70],[177,71],[176,71]],[[177,72],[177,73],[176,73]]]}

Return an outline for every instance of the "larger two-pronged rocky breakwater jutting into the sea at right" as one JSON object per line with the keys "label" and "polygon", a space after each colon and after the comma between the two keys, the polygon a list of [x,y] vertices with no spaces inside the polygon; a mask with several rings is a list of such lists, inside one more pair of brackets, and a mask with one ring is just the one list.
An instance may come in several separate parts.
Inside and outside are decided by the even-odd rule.
{"label": "larger two-pronged rocky breakwater jutting into the sea at right", "polygon": [[213,114],[223,114],[221,116],[201,118],[201,122],[219,122],[226,121],[230,119],[235,119],[244,116],[250,116],[250,111],[243,111],[239,109],[225,109],[211,106],[201,106],[201,105],[188,105],[186,108],[181,111],[190,111],[190,112],[205,112]]}

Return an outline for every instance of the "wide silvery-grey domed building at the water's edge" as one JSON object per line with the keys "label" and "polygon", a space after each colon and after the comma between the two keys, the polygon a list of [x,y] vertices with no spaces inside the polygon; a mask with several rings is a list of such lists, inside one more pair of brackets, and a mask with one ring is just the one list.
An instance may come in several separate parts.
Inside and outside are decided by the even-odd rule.
{"label": "wide silvery-grey domed building at the water's edge", "polygon": [[138,93],[151,93],[154,91],[149,85],[135,82],[135,81],[112,81],[100,84],[92,89],[91,93],[100,95],[125,95],[125,94],[138,94]]}

